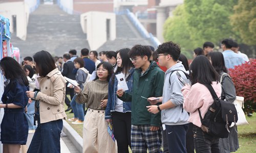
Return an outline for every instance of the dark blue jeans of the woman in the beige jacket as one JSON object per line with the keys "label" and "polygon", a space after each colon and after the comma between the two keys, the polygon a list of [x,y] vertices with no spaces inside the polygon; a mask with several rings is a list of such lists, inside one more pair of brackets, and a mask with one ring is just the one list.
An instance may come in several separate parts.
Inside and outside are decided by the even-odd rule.
{"label": "dark blue jeans of the woman in the beige jacket", "polygon": [[47,123],[40,123],[40,120],[38,120],[38,125],[30,143],[28,153],[59,153],[62,127],[62,119]]}

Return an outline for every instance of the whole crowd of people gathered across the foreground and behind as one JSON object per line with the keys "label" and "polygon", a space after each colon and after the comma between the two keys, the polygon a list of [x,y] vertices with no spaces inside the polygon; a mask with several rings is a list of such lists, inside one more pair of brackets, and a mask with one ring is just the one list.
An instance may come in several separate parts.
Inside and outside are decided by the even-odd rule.
{"label": "whole crowd of people gathered across the foreground and behind", "polygon": [[[22,65],[3,58],[1,73],[8,82],[0,104],[4,152],[19,152],[28,133],[34,133],[28,152],[60,152],[62,119],[69,111],[72,124],[83,124],[83,152],[122,153],[129,147],[132,152],[236,151],[237,127],[230,127],[228,138],[212,136],[202,131],[200,115],[214,103],[207,85],[233,103],[236,89],[228,69],[249,59],[230,39],[222,41],[223,53],[214,47],[205,42],[196,48],[190,65],[172,41],[156,50],[135,45],[100,52],[99,59],[87,48],[80,56],[73,49],[62,57],[42,50]],[[125,91],[117,75],[123,76]],[[184,85],[177,75],[190,83]],[[117,143],[108,133],[110,124]]]}

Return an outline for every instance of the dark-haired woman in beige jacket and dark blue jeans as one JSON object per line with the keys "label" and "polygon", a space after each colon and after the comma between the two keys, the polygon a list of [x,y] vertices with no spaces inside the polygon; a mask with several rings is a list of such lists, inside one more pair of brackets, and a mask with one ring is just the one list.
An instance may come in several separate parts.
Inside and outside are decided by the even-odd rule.
{"label": "dark-haired woman in beige jacket and dark blue jeans", "polygon": [[34,98],[35,120],[37,128],[32,138],[28,153],[60,152],[60,133],[62,119],[67,115],[64,110],[66,80],[56,68],[53,57],[47,51],[37,52],[34,56],[40,91],[27,91],[27,96]]}

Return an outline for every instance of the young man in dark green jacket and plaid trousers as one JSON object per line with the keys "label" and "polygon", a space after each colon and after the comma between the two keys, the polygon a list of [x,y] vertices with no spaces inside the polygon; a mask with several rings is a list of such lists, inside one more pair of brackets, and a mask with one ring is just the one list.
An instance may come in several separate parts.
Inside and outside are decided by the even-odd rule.
{"label": "young man in dark green jacket and plaid trousers", "polygon": [[162,95],[164,72],[155,61],[150,62],[151,49],[148,46],[135,45],[129,56],[135,67],[133,92],[120,89],[117,95],[123,101],[132,101],[132,151],[162,152],[161,114],[148,112],[146,106],[150,105],[147,97]]}

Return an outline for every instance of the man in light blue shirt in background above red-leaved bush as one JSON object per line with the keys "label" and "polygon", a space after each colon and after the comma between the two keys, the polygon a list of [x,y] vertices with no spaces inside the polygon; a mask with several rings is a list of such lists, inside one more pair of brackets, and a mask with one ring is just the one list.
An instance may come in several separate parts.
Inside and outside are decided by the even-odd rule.
{"label": "man in light blue shirt in background above red-leaved bush", "polygon": [[234,66],[241,65],[245,62],[243,57],[239,54],[234,53],[231,48],[233,45],[233,40],[224,39],[221,42],[221,48],[223,49],[223,56],[225,61],[225,66],[227,69],[234,68]]}

